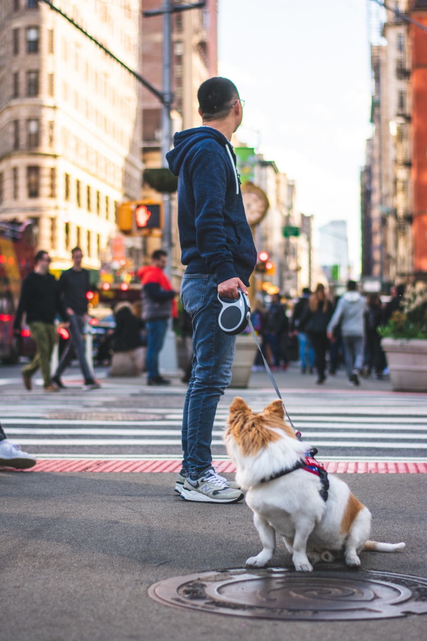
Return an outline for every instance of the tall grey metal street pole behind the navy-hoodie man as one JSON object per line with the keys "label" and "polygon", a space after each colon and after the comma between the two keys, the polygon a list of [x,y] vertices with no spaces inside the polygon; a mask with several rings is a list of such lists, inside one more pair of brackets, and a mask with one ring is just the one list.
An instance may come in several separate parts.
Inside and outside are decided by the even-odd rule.
{"label": "tall grey metal street pole behind the navy-hoodie man", "polygon": [[[172,126],[170,121],[170,105],[172,103],[172,0],[163,1],[163,69],[162,69],[162,91],[165,103],[162,107],[162,141],[161,141],[161,166],[168,167],[166,154],[170,151]],[[162,246],[168,253],[168,266],[166,273],[171,273],[171,249],[172,249],[172,212],[170,206],[170,195],[163,194],[163,214],[165,217],[163,228]]]}

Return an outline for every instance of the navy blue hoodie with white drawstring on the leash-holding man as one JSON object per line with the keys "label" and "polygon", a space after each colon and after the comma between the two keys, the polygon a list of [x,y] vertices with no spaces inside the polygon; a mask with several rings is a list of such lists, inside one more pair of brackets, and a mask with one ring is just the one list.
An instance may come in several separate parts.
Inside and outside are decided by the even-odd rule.
{"label": "navy blue hoodie with white drawstring on the leash-holding man", "polygon": [[238,276],[246,286],[257,263],[233,147],[217,129],[179,131],[166,154],[178,179],[178,228],[186,274]]}

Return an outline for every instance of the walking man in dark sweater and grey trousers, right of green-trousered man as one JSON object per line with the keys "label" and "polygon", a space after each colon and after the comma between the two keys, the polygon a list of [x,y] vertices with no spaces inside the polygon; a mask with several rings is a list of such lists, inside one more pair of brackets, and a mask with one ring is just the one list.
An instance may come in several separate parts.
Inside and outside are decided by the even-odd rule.
{"label": "walking man in dark sweater and grey trousers, right of green-trousered man", "polygon": [[61,374],[70,365],[72,360],[73,347],[76,348],[79,358],[81,371],[85,377],[84,390],[96,390],[101,387],[90,372],[85,355],[85,344],[82,338],[83,326],[88,313],[88,299],[86,298],[89,287],[89,274],[86,269],[81,267],[83,253],[80,247],[74,247],[71,251],[73,266],[71,269],[62,272],[60,276],[59,289],[61,299],[65,304],[68,319],[70,320],[70,338],[62,353],[60,364],[52,380],[58,387],[65,388],[61,381]]}

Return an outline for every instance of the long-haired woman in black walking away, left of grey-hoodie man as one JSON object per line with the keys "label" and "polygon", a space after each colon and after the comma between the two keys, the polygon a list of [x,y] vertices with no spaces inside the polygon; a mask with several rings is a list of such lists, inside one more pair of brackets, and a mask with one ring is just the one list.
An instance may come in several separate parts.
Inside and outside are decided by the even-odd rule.
{"label": "long-haired woman in black walking away, left of grey-hoodie man", "polygon": [[316,383],[319,385],[326,379],[325,356],[329,346],[328,338],[326,337],[326,327],[328,326],[332,312],[332,303],[326,296],[325,287],[322,283],[319,283],[314,294],[311,294],[309,306],[303,313],[301,319],[303,327],[309,335],[314,354],[316,355],[316,370],[318,372]]}

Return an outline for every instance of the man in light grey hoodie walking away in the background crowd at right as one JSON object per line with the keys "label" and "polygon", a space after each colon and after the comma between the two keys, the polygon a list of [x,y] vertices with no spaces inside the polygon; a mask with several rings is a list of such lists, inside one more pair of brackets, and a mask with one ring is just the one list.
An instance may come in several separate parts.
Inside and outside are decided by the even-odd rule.
{"label": "man in light grey hoodie walking away in the background crowd at right", "polygon": [[365,299],[356,291],[355,281],[348,281],[347,291],[338,301],[328,324],[328,338],[334,338],[334,329],[341,322],[341,334],[346,355],[346,369],[350,385],[359,385],[363,365],[363,332]]}

